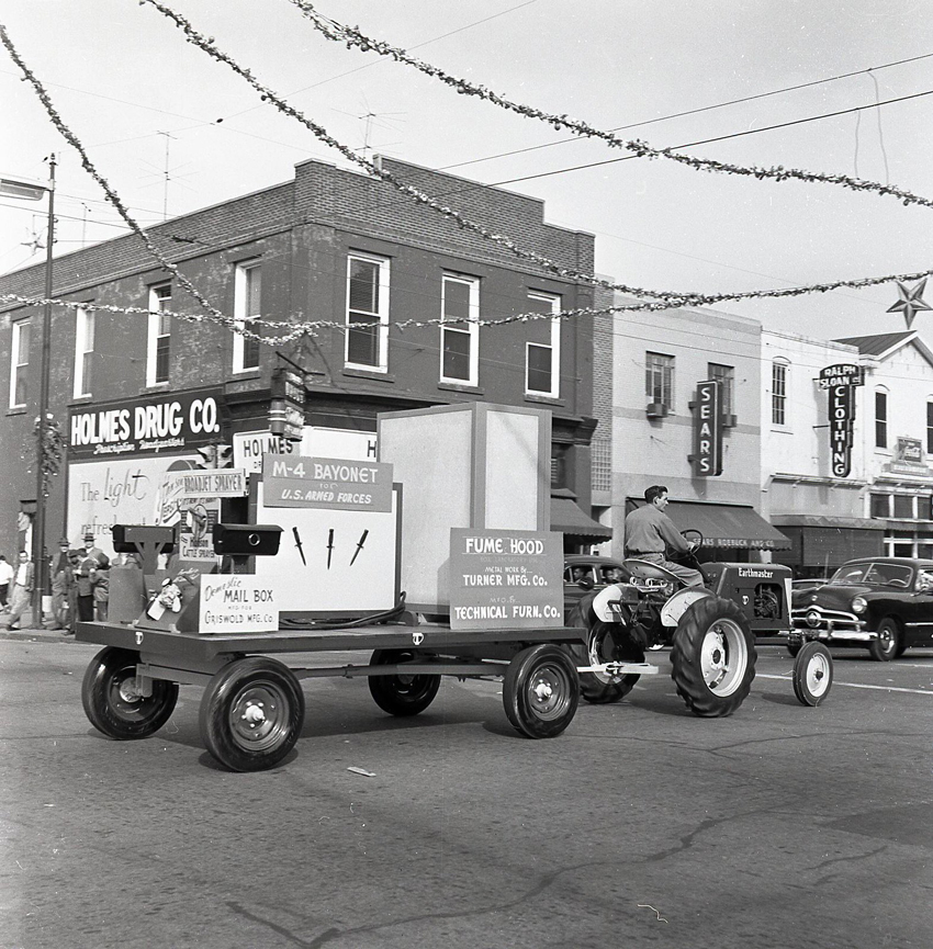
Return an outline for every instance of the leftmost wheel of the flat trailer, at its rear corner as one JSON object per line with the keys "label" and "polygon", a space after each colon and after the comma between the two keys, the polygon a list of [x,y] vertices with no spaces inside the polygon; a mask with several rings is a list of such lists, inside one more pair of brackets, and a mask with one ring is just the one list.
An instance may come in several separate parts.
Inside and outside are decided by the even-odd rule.
{"label": "leftmost wheel of the flat trailer, at its rear corner", "polygon": [[178,682],[153,679],[153,694],[136,688],[139,654],[108,646],[91,659],[81,682],[81,704],[90,723],[110,738],[147,738],[169,720]]}

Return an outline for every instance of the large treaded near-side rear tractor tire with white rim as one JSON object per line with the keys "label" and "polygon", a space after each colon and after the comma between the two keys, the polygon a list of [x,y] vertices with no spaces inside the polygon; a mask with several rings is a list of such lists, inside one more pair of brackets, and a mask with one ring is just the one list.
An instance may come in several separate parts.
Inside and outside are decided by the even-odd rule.
{"label": "large treaded near-side rear tractor tire with white rim", "polygon": [[681,617],[671,677],[695,715],[731,715],[751,691],[755,658],[755,641],[742,611],[731,600],[706,597]]}

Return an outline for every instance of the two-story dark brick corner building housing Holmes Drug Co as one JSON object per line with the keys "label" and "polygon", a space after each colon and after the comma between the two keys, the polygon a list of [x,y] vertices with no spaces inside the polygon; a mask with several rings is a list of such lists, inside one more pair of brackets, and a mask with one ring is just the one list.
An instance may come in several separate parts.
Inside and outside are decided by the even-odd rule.
{"label": "two-story dark brick corner building housing Holmes Drug Co", "polygon": [[[593,271],[592,235],[546,224],[542,202],[382,161],[519,247]],[[481,320],[589,307],[592,286],[524,261],[385,182],[319,161],[147,234],[243,326],[263,335],[270,329],[257,317],[340,326],[273,347],[210,320],[160,315],[200,306],[136,235],[57,258],[56,298],[151,313],[53,308],[49,409],[69,444],[47,500],[47,547],[63,531],[72,543],[88,529],[105,542],[110,524],[151,518],[167,468],[203,463],[211,445],[223,452],[238,434],[268,436],[281,369],[299,374],[304,423],[324,429],[373,432],[380,411],[469,400],[550,408],[553,527],[567,529],[570,547],[583,542],[573,531],[588,523],[591,504],[592,320]],[[41,266],[16,271],[0,276],[0,293],[41,297],[43,280]],[[41,309],[10,302],[0,315],[9,380],[0,549],[9,556],[31,542],[35,510]]]}

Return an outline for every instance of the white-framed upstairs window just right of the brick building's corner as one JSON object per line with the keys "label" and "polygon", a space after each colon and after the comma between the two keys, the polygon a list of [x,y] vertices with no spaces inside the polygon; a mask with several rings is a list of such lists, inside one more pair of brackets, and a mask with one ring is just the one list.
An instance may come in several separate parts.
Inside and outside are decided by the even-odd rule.
{"label": "white-framed upstairs window just right of the brick building's corner", "polygon": [[[347,259],[347,365],[389,370],[389,261]],[[352,326],[350,325],[352,324]]]}

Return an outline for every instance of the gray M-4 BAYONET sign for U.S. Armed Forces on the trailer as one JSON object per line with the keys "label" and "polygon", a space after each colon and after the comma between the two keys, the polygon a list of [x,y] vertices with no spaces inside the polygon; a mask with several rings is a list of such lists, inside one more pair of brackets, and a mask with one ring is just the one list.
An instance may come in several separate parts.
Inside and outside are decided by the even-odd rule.
{"label": "gray M-4 BAYONET sign for U.S. Armed Forces on the trailer", "polygon": [[270,508],[392,510],[392,465],[352,459],[267,454],[265,504]]}

